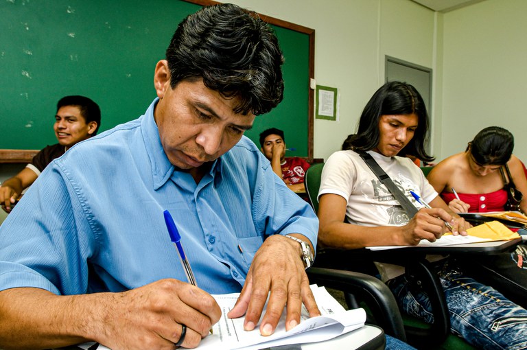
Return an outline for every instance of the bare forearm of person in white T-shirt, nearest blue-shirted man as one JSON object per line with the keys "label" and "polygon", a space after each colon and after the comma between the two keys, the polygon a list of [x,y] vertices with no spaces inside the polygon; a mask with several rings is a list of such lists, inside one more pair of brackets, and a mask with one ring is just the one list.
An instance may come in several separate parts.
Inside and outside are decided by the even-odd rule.
{"label": "bare forearm of person in white T-shirt, nearest blue-shirted man", "polygon": [[399,226],[368,227],[337,221],[320,223],[318,244],[321,248],[336,249],[406,245]]}

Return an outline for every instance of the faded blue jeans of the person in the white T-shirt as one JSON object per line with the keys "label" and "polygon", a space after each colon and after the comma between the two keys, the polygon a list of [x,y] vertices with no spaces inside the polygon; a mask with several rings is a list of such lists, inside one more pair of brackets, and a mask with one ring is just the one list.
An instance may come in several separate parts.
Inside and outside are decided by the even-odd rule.
{"label": "faded blue jeans of the person in the white T-shirt", "polygon": [[[482,349],[527,349],[527,310],[448,264],[438,275],[454,334]],[[412,291],[405,275],[387,284],[404,312],[433,322],[428,296],[419,290]]]}

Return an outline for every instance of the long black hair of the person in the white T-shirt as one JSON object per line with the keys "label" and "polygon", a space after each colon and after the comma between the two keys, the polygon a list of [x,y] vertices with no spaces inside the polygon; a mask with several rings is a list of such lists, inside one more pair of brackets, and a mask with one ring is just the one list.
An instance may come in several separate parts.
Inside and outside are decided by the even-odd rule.
{"label": "long black hair of the person in the white T-shirt", "polygon": [[425,102],[414,86],[406,82],[386,82],[375,91],[362,111],[357,133],[349,137],[343,146],[347,149],[373,150],[379,144],[379,119],[382,115],[412,113],[417,115],[417,129],[412,140],[399,154],[416,156],[421,161],[433,161],[435,158],[425,151],[425,142],[430,134]]}

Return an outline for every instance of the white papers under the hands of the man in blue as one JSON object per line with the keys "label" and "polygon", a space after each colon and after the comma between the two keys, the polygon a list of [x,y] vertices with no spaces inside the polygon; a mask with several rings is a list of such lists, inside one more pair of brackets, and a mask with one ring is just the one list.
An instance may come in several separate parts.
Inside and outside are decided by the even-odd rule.
{"label": "white papers under the hands of the man in blue", "polygon": [[[213,334],[202,340],[198,349],[262,349],[278,345],[303,344],[320,342],[340,336],[364,326],[366,312],[363,309],[344,310],[344,307],[331,296],[327,290],[317,285],[311,285],[318,310],[321,316],[309,318],[302,305],[301,322],[298,326],[285,331],[285,310],[274,334],[268,337],[260,335],[259,325],[253,331],[244,331],[244,317],[227,318],[227,313],[234,307],[239,293],[213,295],[220,305],[222,317],[213,326]],[[262,312],[262,315],[264,315]],[[93,342],[79,345],[88,349]],[[99,346],[97,350],[109,350]]]}

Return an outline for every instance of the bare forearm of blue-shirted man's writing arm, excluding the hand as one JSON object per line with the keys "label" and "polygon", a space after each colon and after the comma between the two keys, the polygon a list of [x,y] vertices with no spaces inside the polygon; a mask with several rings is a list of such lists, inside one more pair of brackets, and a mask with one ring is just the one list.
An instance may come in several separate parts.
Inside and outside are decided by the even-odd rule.
{"label": "bare forearm of blue-shirted man's writing arm, excluding the hand", "polygon": [[[58,296],[38,288],[0,292],[0,348],[47,349],[95,339],[104,333],[105,317],[103,298],[95,300],[95,295],[101,294]],[[95,314],[97,323],[90,321]]]}

